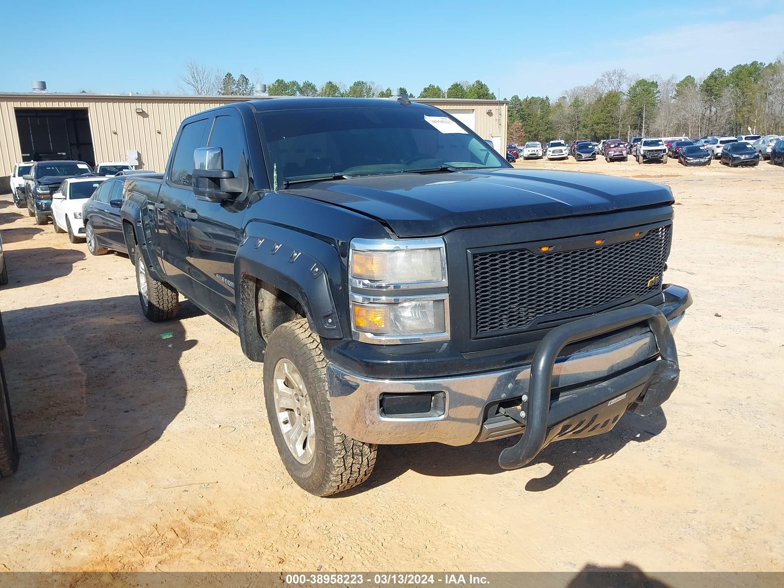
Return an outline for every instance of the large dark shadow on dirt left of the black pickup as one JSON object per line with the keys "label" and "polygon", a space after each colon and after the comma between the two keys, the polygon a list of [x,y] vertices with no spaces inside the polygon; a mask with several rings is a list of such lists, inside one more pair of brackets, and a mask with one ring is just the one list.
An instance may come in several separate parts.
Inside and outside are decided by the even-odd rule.
{"label": "large dark shadow on dirt left of the black pickup", "polygon": [[[192,306],[182,304],[183,316],[201,314]],[[0,517],[128,462],[185,405],[180,357],[197,341],[186,339],[180,321],[147,322],[135,295],[9,310],[2,318],[20,464],[0,480]]]}

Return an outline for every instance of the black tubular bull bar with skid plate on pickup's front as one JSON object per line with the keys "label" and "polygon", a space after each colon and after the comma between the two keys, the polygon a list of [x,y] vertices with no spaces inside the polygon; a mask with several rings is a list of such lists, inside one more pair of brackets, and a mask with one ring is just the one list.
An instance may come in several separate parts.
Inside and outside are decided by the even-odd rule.
{"label": "black tubular bull bar with skid plate on pickup's front", "polygon": [[[564,401],[554,402],[551,408],[553,366],[561,349],[642,321],[648,322],[655,336],[658,360],[572,390]],[[637,414],[648,415],[673,393],[680,372],[670,325],[661,310],[648,304],[611,310],[554,328],[534,354],[528,401],[521,403],[524,433],[516,445],[501,452],[499,466],[505,470],[522,467],[558,439],[606,433],[631,406]]]}

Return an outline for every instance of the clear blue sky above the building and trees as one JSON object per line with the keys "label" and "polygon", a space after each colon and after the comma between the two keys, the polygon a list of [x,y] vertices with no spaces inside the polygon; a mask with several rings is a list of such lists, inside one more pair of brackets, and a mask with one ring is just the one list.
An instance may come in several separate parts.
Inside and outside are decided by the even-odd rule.
{"label": "clear blue sky above the building and trees", "polygon": [[6,2],[2,12],[6,92],[41,79],[51,92],[179,93],[192,59],[235,77],[257,69],[267,83],[363,79],[419,93],[480,78],[499,97],[557,96],[614,67],[699,78],[784,52],[780,0],[83,0]]}

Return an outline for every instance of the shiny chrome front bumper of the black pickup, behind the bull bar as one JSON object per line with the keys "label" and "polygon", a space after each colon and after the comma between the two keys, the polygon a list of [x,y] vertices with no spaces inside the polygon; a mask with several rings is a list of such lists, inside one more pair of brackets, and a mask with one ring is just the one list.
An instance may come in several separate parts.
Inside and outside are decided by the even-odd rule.
{"label": "shiny chrome front bumper of the black pickup, behind the bull bar", "polygon": [[[675,332],[684,318],[678,314],[668,321]],[[615,343],[558,356],[552,387],[607,379],[659,352],[652,332],[641,332]],[[372,379],[327,365],[332,417],[348,437],[379,444],[437,442],[468,445],[480,437],[485,407],[506,398],[528,393],[531,366],[441,379]],[[390,418],[383,416],[381,394],[444,392],[445,408],[441,416],[424,418]],[[499,438],[499,437],[495,437]]]}

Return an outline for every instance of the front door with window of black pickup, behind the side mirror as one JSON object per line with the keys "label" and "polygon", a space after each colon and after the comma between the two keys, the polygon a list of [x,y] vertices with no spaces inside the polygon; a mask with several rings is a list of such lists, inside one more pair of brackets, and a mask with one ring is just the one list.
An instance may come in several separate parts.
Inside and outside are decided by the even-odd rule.
{"label": "front door with window of black pickup, behind the side mirror", "polygon": [[[223,112],[223,111],[222,111]],[[216,318],[236,324],[234,257],[242,238],[242,220],[248,201],[249,161],[242,118],[234,109],[216,116],[208,147],[223,150],[223,169],[244,179],[245,192],[229,201],[194,197],[188,211],[188,239],[196,288]]]}

